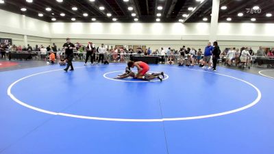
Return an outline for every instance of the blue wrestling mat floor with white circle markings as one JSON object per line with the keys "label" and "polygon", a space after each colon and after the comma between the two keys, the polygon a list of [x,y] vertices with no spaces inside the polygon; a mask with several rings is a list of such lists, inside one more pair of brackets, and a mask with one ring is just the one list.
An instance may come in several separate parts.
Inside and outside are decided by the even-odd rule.
{"label": "blue wrestling mat floor with white circle markings", "polygon": [[74,65],[0,67],[1,154],[274,153],[273,70],[151,65],[165,80],[143,82]]}

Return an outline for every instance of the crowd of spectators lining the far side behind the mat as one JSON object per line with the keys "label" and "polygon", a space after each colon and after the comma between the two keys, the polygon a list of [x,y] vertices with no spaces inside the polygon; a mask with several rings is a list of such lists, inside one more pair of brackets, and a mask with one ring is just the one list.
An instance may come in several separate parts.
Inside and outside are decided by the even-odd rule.
{"label": "crowd of spectators lining the far side behind the mat", "polygon": [[[86,59],[86,55],[90,56],[91,62],[95,62],[95,60],[105,61],[106,57],[111,57],[111,60],[114,62],[124,62],[125,61],[125,54],[140,54],[143,56],[151,56],[151,55],[158,55],[160,57],[160,63],[162,64],[175,64],[175,60],[179,65],[195,65],[203,63],[203,66],[208,66],[211,68],[212,66],[212,51],[213,47],[209,43],[205,49],[195,49],[193,47],[185,47],[176,50],[171,49],[171,47],[161,47],[160,49],[155,49],[154,51],[151,48],[142,49],[137,48],[132,49],[129,47],[105,47],[101,44],[101,47],[95,47],[95,44],[92,44],[92,49],[90,49],[90,43],[85,46],[80,44],[79,42],[75,43],[75,53],[79,55],[80,60]],[[49,56],[49,52],[53,51],[57,58],[60,59],[60,54],[62,53],[63,49],[57,48],[55,43],[51,46],[44,47],[42,44],[38,46],[36,44],[35,47],[30,46],[27,44],[27,47],[15,44],[13,45],[5,45],[1,44],[1,58],[5,58],[6,51],[25,51],[25,52],[32,52],[32,51],[40,51],[40,55],[42,58]],[[57,53],[57,54],[56,54]],[[84,56],[85,55],[85,56]],[[130,55],[131,56],[131,55]],[[274,57],[274,49],[266,49],[264,50],[260,47],[257,52],[253,51],[251,47],[242,47],[241,49],[236,49],[236,47],[225,48],[223,52],[221,52],[221,60],[225,62],[227,66],[238,65],[241,62],[249,63],[252,56],[256,56],[256,58],[264,58],[264,57]],[[177,59],[176,59],[177,58]],[[202,62],[201,62],[202,60]],[[86,60],[87,62],[87,60]]]}

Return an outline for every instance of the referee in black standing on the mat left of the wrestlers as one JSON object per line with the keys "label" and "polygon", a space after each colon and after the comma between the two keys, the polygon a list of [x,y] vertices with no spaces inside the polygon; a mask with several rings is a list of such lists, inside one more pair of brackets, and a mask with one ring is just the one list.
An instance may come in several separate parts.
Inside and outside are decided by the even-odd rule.
{"label": "referee in black standing on the mat left of the wrestlers", "polygon": [[64,68],[64,71],[68,71],[69,70],[69,66],[71,66],[70,70],[74,70],[73,69],[73,49],[75,49],[74,44],[71,43],[71,39],[66,38],[66,43],[63,45],[64,49],[66,49],[65,55],[66,55],[66,62],[68,64],[66,64],[66,68]]}

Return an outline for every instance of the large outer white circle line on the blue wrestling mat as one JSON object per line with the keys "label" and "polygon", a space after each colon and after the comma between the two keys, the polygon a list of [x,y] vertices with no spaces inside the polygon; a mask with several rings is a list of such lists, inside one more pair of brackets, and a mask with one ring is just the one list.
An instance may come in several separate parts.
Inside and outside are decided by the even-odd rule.
{"label": "large outer white circle line on the blue wrestling mat", "polygon": [[[162,67],[164,67],[164,66],[162,66]],[[83,68],[83,67],[79,67],[79,68]],[[177,67],[169,67],[169,68],[177,68]],[[190,69],[190,68],[182,68],[182,69],[195,70],[195,69]],[[236,77],[232,77],[232,76],[229,76],[229,75],[223,75],[221,73],[213,73],[213,72],[209,72],[209,71],[205,71],[205,70],[195,70],[195,71],[200,71],[200,72],[205,72],[205,73],[213,73],[213,74],[216,74],[216,75],[221,75],[221,76],[224,76],[224,77],[230,77],[232,79],[242,81],[245,84],[248,84],[249,86],[251,86],[252,88],[254,88],[256,90],[257,98],[254,101],[252,101],[251,103],[249,103],[248,105],[237,108],[235,110],[230,110],[230,111],[227,111],[227,112],[220,112],[220,113],[216,113],[216,114],[202,115],[202,116],[188,116],[188,117],[177,117],[177,118],[154,118],[154,119],[153,118],[103,118],[103,117],[81,116],[81,115],[75,115],[75,114],[66,114],[66,113],[58,113],[58,112],[51,112],[51,111],[48,111],[48,110],[43,110],[43,109],[40,109],[38,107],[34,107],[32,105],[28,105],[27,103],[24,103],[23,101],[18,100],[16,97],[14,97],[14,95],[11,92],[12,87],[15,84],[17,84],[19,81],[23,81],[24,79],[27,79],[29,77],[33,77],[35,75],[50,73],[50,72],[59,71],[59,70],[62,70],[62,69],[49,70],[49,71],[45,71],[45,72],[41,72],[41,73],[36,73],[36,74],[29,75],[27,77],[23,77],[21,79],[18,79],[16,81],[14,81],[14,83],[12,83],[8,87],[8,90],[7,90],[8,96],[10,96],[10,98],[12,100],[14,100],[16,103],[18,103],[20,105],[28,107],[29,109],[32,109],[32,110],[36,110],[38,112],[43,112],[45,114],[51,114],[51,115],[55,115],[55,116],[67,116],[67,117],[72,117],[72,118],[90,119],[90,120],[123,121],[123,122],[163,122],[163,121],[175,121],[175,120],[194,120],[194,119],[201,119],[201,118],[211,118],[211,117],[215,117],[215,116],[224,116],[224,115],[227,115],[227,114],[233,114],[233,113],[236,113],[236,112],[240,112],[242,110],[246,110],[249,107],[252,107],[253,105],[256,105],[262,97],[262,94],[261,94],[260,90],[256,86],[254,86],[253,84],[249,83],[248,81],[245,81],[243,79],[238,79]]]}

